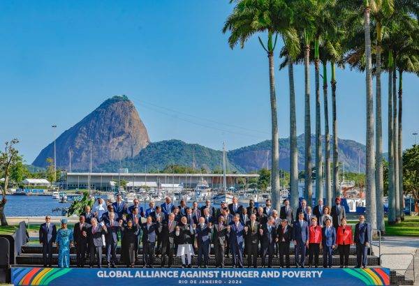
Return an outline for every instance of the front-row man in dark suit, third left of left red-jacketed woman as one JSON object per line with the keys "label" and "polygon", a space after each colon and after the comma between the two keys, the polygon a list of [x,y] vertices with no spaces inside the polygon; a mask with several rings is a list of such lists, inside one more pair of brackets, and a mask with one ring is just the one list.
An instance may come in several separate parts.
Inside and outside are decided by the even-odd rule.
{"label": "front-row man in dark suit, third left of left red-jacketed woman", "polygon": [[270,268],[272,267],[272,258],[274,257],[275,243],[277,242],[277,228],[274,225],[272,216],[267,219],[265,225],[260,227],[259,232],[262,240],[262,267],[266,265],[267,255],[267,267]]}

